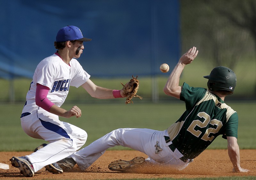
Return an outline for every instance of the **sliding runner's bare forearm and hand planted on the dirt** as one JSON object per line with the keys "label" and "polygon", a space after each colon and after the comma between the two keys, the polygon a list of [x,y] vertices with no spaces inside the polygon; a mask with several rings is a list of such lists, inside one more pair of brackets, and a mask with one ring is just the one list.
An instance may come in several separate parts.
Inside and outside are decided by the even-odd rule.
{"label": "sliding runner's bare forearm and hand planted on the dirt", "polygon": [[228,139],[228,156],[233,164],[232,172],[249,172],[248,169],[243,169],[240,166],[240,152],[235,137],[227,137]]}

